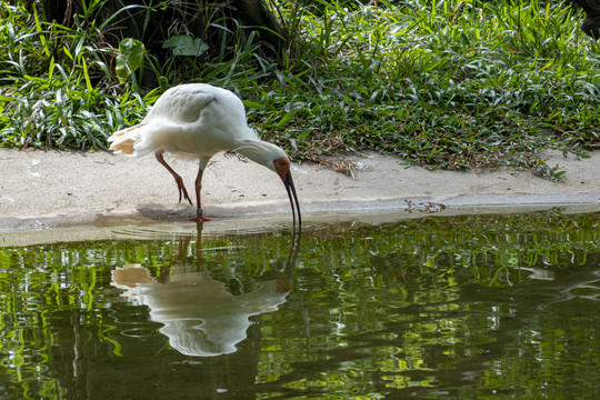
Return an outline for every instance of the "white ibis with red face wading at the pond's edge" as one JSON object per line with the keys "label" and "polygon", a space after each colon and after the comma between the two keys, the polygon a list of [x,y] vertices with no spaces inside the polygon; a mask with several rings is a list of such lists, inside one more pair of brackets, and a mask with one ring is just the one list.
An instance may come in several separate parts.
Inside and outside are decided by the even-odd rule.
{"label": "white ibis with red face wading at the pond's edge", "polygon": [[191,219],[198,223],[209,220],[202,212],[200,190],[202,173],[210,158],[220,151],[237,151],[277,172],[288,191],[293,223],[294,201],[298,224],[302,223],[290,159],[281,148],[260,140],[257,132],[248,127],[243,103],[229,90],[203,83],[171,88],[157,100],[143,121],[114,132],[108,141],[114,153],[141,157],[154,152],[157,160],[176,180],[179,202],[183,197],[192,206],[183,179],[164,161],[162,154],[170,152],[199,159],[196,178],[197,216]]}

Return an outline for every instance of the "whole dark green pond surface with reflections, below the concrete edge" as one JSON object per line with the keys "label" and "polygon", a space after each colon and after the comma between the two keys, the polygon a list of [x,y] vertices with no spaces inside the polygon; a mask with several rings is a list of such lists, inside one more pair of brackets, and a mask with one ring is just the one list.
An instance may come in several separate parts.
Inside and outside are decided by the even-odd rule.
{"label": "whole dark green pond surface with reflections, below the concrete edge", "polygon": [[600,213],[188,232],[0,248],[0,398],[600,393]]}

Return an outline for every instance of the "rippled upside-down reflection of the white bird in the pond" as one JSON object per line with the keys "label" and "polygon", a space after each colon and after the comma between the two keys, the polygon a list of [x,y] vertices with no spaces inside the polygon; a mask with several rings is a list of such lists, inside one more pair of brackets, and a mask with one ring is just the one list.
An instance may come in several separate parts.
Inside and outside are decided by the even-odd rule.
{"label": "rippled upside-down reflection of the white bird in the pond", "polygon": [[[197,252],[202,263],[201,231]],[[160,332],[173,349],[186,356],[214,357],[232,353],[247,338],[250,317],[277,311],[291,290],[290,274],[296,262],[300,232],[292,239],[292,249],[274,280],[264,281],[249,292],[234,296],[223,282],[211,279],[203,268],[186,272],[177,264],[186,254],[190,238],[180,247],[180,257],[154,278],[140,264],[127,264],[112,271],[112,284],[123,296],[150,308],[150,319],[163,324]]]}

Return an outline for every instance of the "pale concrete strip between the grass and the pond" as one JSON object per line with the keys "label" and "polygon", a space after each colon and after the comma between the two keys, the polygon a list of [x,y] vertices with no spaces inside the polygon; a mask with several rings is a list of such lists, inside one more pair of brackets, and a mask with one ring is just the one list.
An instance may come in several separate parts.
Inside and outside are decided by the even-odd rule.
{"label": "pale concrete strip between the grass and the pond", "polygon": [[[328,211],[439,211],[523,206],[569,206],[600,210],[600,152],[589,159],[548,152],[548,164],[566,170],[562,182],[509,169],[431,171],[406,168],[401,159],[352,157],[353,177],[311,163],[292,174],[303,217]],[[174,160],[193,192],[196,163]],[[172,177],[151,156],[108,152],[0,149],[0,231],[82,223],[170,221],[194,214],[178,203]],[[236,156],[214,157],[204,173],[203,208],[214,220],[291,211],[279,178]],[[212,221],[211,221],[212,222]],[[209,222],[210,223],[210,222]],[[1,243],[0,243],[1,246]]]}

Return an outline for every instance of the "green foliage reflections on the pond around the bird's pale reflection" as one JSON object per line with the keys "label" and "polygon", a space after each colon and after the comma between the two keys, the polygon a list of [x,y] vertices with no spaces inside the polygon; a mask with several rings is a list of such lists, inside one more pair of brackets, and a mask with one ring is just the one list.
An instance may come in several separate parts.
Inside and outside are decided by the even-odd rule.
{"label": "green foliage reflections on the pond around the bird's pale reflection", "polygon": [[[26,391],[60,397],[74,390],[68,382],[73,372],[49,374],[51,366],[76,363],[92,351],[107,354],[108,363],[127,359],[131,343],[123,343],[123,332],[132,328],[118,317],[126,306],[110,287],[114,266],[141,263],[156,277],[174,264],[207,269],[241,293],[284,268],[290,240],[273,233],[204,237],[201,252],[190,237],[0,249],[0,370],[7,388],[14,398]],[[578,317],[572,308],[598,300],[598,277],[584,272],[598,261],[598,213],[314,227],[302,237],[291,299],[260,318],[257,390],[278,382],[286,392],[344,397],[436,388],[446,379],[440,371],[473,358],[483,360],[470,368],[490,389],[533,387],[557,362],[586,376],[589,367],[573,354],[590,366],[600,362],[593,351],[598,332],[584,311]],[[544,280],[544,273],[560,279]],[[130,318],[144,323],[134,329],[153,331],[143,309],[131,310]],[[520,317],[507,322],[510,316]],[[562,316],[567,322],[557,321]],[[507,354],[519,352],[531,357],[514,369]],[[566,371],[556,376],[572,378]]]}

